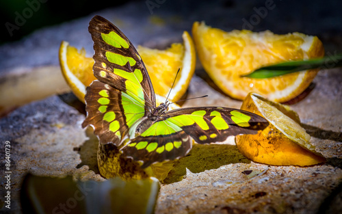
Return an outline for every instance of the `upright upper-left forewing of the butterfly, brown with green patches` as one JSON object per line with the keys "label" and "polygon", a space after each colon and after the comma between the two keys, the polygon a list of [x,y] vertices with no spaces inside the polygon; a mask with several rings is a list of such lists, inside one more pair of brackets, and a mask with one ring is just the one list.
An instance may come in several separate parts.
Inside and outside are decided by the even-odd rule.
{"label": "upright upper-left forewing of the butterfly, brown with green patches", "polygon": [[155,93],[144,62],[120,29],[105,18],[94,16],[89,32],[94,40],[94,76],[126,92],[146,110],[155,107]]}

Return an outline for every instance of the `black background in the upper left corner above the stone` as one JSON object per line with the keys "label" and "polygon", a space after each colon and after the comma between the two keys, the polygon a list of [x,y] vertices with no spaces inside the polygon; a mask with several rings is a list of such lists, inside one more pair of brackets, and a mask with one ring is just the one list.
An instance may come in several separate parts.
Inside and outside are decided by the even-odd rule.
{"label": "black background in the upper left corner above the stone", "polygon": [[[15,24],[17,14],[23,14],[25,8],[29,7],[27,1],[31,5],[34,2],[40,3],[39,9],[27,18],[27,21],[18,30],[13,31],[10,36],[5,23]],[[42,2],[40,2],[42,1]],[[44,2],[46,1],[46,2]],[[132,1],[132,0],[131,0]],[[44,2],[44,3],[43,3]],[[0,1],[0,20],[1,20],[1,37],[0,44],[4,42],[15,41],[23,38],[41,27],[56,25],[65,21],[70,21],[81,16],[86,16],[96,10],[104,8],[114,8],[129,1],[115,0],[1,0]],[[36,7],[36,6],[34,6]],[[16,13],[18,12],[18,13]],[[27,13],[29,14],[29,13]]]}

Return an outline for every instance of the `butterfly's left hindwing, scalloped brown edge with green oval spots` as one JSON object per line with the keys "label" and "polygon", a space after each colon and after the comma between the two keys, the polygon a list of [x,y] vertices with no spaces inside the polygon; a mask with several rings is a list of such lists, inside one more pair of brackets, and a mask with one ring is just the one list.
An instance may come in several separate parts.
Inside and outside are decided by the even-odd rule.
{"label": "butterfly's left hindwing, scalloped brown edge with green oval spots", "polygon": [[129,128],[144,116],[144,106],[100,81],[93,81],[86,93],[87,117],[82,126],[92,125],[102,144],[120,146]]}

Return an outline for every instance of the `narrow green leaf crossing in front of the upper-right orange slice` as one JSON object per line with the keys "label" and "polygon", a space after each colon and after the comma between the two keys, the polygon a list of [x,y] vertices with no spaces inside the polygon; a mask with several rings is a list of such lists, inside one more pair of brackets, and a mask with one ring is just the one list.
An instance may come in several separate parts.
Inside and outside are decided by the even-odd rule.
{"label": "narrow green leaf crossing in front of the upper-right orange slice", "polygon": [[271,66],[265,66],[258,68],[248,75],[241,77],[250,77],[255,79],[263,79],[269,77],[278,77],[281,75],[287,75],[292,72],[298,72],[302,70],[308,70],[313,68],[337,68],[342,66],[342,55],[330,55],[319,59],[309,59],[304,61],[289,61],[282,62],[280,64],[274,64]]}

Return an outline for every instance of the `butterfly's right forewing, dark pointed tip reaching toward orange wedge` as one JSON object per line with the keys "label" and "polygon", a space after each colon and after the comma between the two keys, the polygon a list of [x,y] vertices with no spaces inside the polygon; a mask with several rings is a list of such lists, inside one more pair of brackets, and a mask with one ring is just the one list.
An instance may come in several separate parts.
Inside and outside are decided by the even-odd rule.
{"label": "butterfly's right forewing, dark pointed tip reaching toward orange wedge", "polygon": [[169,111],[166,121],[181,127],[198,144],[223,142],[227,137],[256,134],[267,120],[249,111],[226,107],[191,107]]}

